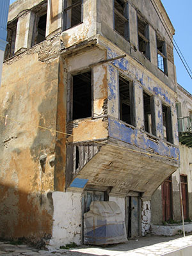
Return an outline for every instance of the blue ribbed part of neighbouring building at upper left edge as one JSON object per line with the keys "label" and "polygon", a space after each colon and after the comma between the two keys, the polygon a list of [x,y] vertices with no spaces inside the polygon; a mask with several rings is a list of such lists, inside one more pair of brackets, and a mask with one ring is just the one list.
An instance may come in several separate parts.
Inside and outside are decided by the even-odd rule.
{"label": "blue ribbed part of neighbouring building at upper left edge", "polygon": [[8,20],[10,0],[0,1],[0,50],[4,51],[6,47],[6,24]]}

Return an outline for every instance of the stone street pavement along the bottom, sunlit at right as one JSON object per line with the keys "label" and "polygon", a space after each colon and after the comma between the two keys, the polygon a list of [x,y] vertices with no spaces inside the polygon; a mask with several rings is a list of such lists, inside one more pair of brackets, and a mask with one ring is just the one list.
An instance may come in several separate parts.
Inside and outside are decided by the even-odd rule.
{"label": "stone street pavement along the bottom, sunlit at right", "polygon": [[[71,250],[39,250],[28,244],[10,244],[8,241],[0,241],[0,256],[21,256],[21,255],[66,255],[66,256],[157,256],[166,255],[169,252],[177,252],[180,248],[192,246],[192,236],[186,237],[159,237],[145,236],[132,239],[127,243],[99,246],[81,246]],[[179,254],[180,255],[180,254]],[[191,249],[192,255],[192,249]]]}

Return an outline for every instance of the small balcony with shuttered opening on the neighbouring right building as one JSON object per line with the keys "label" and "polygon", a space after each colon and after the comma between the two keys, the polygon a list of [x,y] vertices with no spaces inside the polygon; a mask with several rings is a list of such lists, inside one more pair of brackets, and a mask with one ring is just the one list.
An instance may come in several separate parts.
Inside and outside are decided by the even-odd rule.
{"label": "small balcony with shuttered opening on the neighbouring right building", "polygon": [[178,118],[179,142],[192,147],[192,119],[189,116]]}

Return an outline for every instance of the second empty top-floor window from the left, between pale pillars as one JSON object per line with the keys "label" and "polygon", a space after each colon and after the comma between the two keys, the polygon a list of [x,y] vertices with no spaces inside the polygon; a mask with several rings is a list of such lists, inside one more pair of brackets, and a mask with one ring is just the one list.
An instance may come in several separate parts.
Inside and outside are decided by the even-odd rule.
{"label": "second empty top-floor window from the left, between pale pillars", "polygon": [[35,26],[33,31],[33,39],[31,46],[39,44],[45,40],[47,24],[47,7],[42,13],[37,13],[35,18]]}

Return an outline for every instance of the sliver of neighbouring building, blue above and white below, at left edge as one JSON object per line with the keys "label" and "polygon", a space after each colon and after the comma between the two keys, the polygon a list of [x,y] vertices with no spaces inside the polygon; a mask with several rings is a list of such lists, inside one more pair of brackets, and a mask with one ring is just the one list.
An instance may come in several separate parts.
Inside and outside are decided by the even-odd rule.
{"label": "sliver of neighbouring building, blue above and white below, at left edge", "polygon": [[6,47],[6,24],[8,19],[10,0],[1,1],[1,9],[0,9],[0,86],[1,86],[1,74],[2,74],[2,66],[4,59],[4,50]]}

